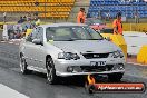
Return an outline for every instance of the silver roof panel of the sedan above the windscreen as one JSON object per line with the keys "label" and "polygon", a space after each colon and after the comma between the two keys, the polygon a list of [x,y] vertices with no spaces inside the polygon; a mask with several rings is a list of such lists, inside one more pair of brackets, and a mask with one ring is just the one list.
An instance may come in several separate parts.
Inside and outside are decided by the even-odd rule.
{"label": "silver roof panel of the sedan above the windscreen", "polygon": [[39,27],[48,28],[48,27],[72,27],[72,26],[87,26],[84,23],[71,23],[71,22],[63,22],[63,23],[48,23],[48,24],[40,24]]}

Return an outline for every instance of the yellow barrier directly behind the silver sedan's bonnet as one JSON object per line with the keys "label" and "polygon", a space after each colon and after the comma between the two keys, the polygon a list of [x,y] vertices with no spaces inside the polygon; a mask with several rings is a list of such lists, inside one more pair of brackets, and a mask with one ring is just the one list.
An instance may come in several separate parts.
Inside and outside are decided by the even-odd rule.
{"label": "yellow barrier directly behind the silver sedan's bonnet", "polygon": [[127,59],[127,43],[121,35],[112,35],[112,33],[101,33],[105,38],[110,38],[110,40],[121,48],[126,59]]}

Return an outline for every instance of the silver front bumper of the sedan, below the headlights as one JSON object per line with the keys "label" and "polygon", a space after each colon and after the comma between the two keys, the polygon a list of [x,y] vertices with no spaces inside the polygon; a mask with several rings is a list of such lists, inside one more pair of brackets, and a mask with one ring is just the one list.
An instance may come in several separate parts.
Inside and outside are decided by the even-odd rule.
{"label": "silver front bumper of the sedan, below the headlights", "polygon": [[[111,69],[107,70],[81,70],[84,67],[91,67],[91,61],[106,61],[106,66],[111,66]],[[78,76],[78,75],[108,75],[116,72],[125,72],[125,59],[79,59],[79,60],[56,60],[56,74],[57,76],[68,77],[68,76]],[[68,67],[75,68],[72,71],[68,71]],[[122,68],[119,68],[122,67]],[[79,70],[80,69],[80,70]]]}

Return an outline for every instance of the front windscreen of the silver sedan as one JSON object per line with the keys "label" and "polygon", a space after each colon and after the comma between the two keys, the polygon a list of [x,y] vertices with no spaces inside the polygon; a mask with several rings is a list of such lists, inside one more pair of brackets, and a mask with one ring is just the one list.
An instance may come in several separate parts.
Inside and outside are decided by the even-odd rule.
{"label": "front windscreen of the silver sedan", "polygon": [[46,29],[47,41],[101,40],[100,33],[85,26],[49,27]]}

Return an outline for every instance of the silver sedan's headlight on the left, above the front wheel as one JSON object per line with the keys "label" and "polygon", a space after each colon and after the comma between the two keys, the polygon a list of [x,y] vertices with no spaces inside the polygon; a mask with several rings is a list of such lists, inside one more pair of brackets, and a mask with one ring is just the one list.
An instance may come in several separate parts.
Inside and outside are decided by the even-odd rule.
{"label": "silver sedan's headlight on the left, above the front wheel", "polygon": [[77,60],[77,59],[80,59],[80,57],[77,53],[72,53],[72,52],[60,52],[58,53],[58,59]]}

